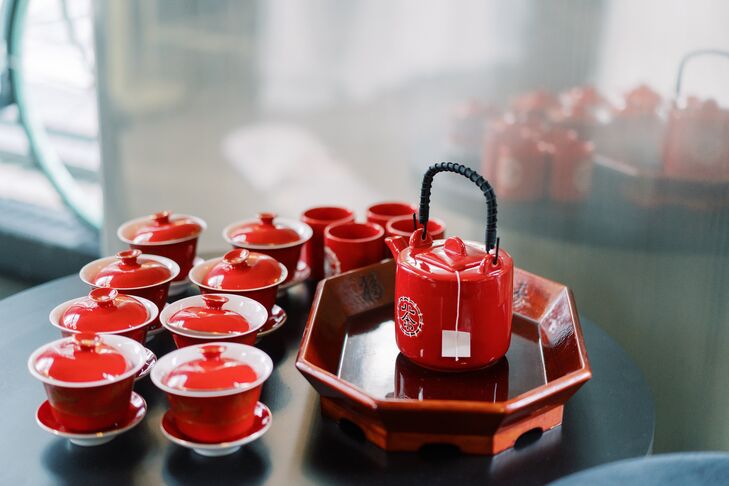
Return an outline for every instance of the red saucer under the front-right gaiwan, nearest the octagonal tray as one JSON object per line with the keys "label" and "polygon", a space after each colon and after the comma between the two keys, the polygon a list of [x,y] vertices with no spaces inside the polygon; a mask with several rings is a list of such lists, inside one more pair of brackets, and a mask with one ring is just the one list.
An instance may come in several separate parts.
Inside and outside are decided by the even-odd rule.
{"label": "red saucer under the front-right gaiwan, nearest the octagonal tray", "polygon": [[271,427],[273,416],[271,415],[271,411],[268,409],[267,406],[265,406],[261,402],[258,402],[256,403],[256,408],[253,413],[256,417],[255,421],[251,429],[245,435],[236,440],[219,442],[217,444],[194,442],[193,440],[185,437],[185,435],[179,431],[177,425],[175,425],[175,421],[172,419],[172,414],[169,411],[167,411],[164,417],[162,417],[160,429],[162,429],[162,433],[170,441],[182,447],[192,449],[201,456],[227,456],[228,454],[233,454],[234,452],[236,452],[238,449],[241,448],[241,446],[258,439],[266,433],[269,427]]}

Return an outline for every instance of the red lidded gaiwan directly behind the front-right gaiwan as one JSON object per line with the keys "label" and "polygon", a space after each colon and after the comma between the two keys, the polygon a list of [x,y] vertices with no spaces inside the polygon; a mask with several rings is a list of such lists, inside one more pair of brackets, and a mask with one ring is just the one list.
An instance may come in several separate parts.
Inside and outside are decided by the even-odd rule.
{"label": "red lidded gaiwan directly behind the front-right gaiwan", "polygon": [[232,294],[203,294],[174,302],[160,321],[178,348],[213,341],[253,345],[268,312],[253,299]]}

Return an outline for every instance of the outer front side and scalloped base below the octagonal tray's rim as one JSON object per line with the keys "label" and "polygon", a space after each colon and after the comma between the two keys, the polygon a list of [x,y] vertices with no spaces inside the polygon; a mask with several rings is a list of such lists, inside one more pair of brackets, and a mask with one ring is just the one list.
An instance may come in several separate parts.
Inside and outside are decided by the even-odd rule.
{"label": "outer front side and scalloped base below the octagonal tray's rim", "polygon": [[335,400],[321,397],[322,413],[333,420],[349,420],[357,425],[365,438],[386,451],[417,451],[428,444],[451,444],[466,454],[494,455],[514,446],[516,440],[533,429],[547,431],[562,423],[564,407],[551,408],[536,416],[499,428],[492,437],[459,434],[431,434],[415,432],[388,432],[382,423],[372,417],[342,406]]}

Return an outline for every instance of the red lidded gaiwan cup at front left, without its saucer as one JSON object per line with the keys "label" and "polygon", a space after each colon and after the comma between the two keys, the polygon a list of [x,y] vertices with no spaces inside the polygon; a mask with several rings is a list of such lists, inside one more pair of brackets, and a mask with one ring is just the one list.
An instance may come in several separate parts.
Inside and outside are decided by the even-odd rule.
{"label": "red lidded gaiwan cup at front left, without its saucer", "polygon": [[35,350],[30,373],[43,382],[53,417],[72,432],[102,432],[129,412],[144,346],[123,336],[76,334]]}

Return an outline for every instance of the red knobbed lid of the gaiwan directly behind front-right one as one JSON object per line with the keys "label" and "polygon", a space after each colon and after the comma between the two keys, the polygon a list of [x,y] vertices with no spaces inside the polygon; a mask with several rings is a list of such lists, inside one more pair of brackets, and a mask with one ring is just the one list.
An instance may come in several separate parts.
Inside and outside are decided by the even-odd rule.
{"label": "red knobbed lid of the gaiwan directly behind front-right one", "polygon": [[201,295],[203,306],[185,307],[175,312],[168,325],[189,331],[213,334],[240,334],[251,329],[248,319],[241,314],[223,309],[228,297],[218,294]]}

